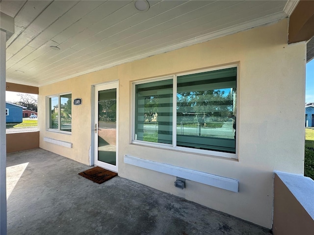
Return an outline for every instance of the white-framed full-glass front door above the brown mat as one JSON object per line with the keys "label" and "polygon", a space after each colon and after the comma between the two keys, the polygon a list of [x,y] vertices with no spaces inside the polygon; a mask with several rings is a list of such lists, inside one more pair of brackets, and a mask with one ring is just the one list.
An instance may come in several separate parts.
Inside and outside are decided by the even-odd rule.
{"label": "white-framed full-glass front door above the brown mat", "polygon": [[95,165],[118,172],[118,82],[95,87]]}

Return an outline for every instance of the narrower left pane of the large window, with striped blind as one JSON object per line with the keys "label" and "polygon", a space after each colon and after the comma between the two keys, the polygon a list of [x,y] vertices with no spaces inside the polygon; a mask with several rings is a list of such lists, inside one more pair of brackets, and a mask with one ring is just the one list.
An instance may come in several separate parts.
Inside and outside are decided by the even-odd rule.
{"label": "narrower left pane of the large window, with striped blind", "polygon": [[135,85],[135,140],[172,144],[172,79]]}

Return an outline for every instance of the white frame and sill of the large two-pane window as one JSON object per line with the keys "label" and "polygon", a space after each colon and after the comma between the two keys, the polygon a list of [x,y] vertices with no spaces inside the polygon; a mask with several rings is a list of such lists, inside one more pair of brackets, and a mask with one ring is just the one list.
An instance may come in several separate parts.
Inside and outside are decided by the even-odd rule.
{"label": "white frame and sill of the large two-pane window", "polygon": [[[176,125],[172,125],[172,144],[166,144],[166,143],[153,143],[153,142],[148,142],[148,141],[139,141],[135,140],[135,123],[134,123],[134,118],[135,118],[135,85],[138,84],[143,84],[143,83],[148,83],[148,82],[155,82],[155,81],[162,81],[162,80],[168,80],[168,79],[173,79],[173,84],[177,84],[177,76],[183,76],[183,75],[189,75],[189,74],[195,74],[195,73],[201,73],[201,72],[208,72],[208,71],[216,71],[216,70],[222,70],[222,69],[230,69],[230,68],[235,68],[236,67],[236,117],[239,117],[239,100],[240,100],[240,95],[239,95],[239,64],[231,64],[228,66],[221,66],[221,67],[215,67],[215,68],[210,68],[210,69],[205,69],[205,70],[198,70],[198,71],[190,71],[190,72],[183,72],[183,73],[176,73],[171,76],[165,76],[165,77],[157,77],[157,78],[151,78],[151,79],[145,79],[137,82],[132,83],[132,137],[131,137],[131,143],[132,144],[137,144],[137,145],[144,145],[144,146],[149,146],[149,147],[159,147],[163,149],[169,149],[169,150],[174,150],[174,151],[180,151],[180,152],[186,152],[186,153],[193,153],[193,154],[199,154],[199,155],[205,155],[205,156],[213,156],[213,157],[222,157],[226,159],[233,159],[237,160],[238,159],[238,135],[239,135],[239,118],[236,118],[236,136],[235,136],[235,153],[226,153],[226,152],[219,152],[219,151],[214,151],[214,150],[205,150],[205,149],[197,149],[197,148],[188,148],[188,147],[181,147],[181,146],[176,146],[177,143],[177,128]],[[177,100],[177,86],[173,86],[173,101]],[[172,123],[176,123],[177,119],[177,109],[173,103],[173,119]]]}

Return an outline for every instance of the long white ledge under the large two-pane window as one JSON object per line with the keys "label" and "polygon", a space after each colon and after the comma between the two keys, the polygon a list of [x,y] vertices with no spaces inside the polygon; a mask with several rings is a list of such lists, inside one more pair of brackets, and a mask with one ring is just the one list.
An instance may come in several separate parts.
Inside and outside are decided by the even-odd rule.
{"label": "long white ledge under the large two-pane window", "polygon": [[195,181],[205,185],[238,192],[238,181],[226,177],[208,174],[201,171],[191,170],[170,164],[157,163],[150,160],[124,155],[124,163],[154,170],[168,175],[177,176],[183,179]]}

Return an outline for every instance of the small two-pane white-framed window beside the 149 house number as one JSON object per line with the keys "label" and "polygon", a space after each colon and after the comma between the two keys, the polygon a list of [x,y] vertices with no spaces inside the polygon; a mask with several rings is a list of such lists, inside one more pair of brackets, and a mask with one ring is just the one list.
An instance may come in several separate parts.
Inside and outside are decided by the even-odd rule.
{"label": "small two-pane white-framed window beside the 149 house number", "polygon": [[55,131],[72,131],[72,94],[59,94],[48,97],[49,128]]}

